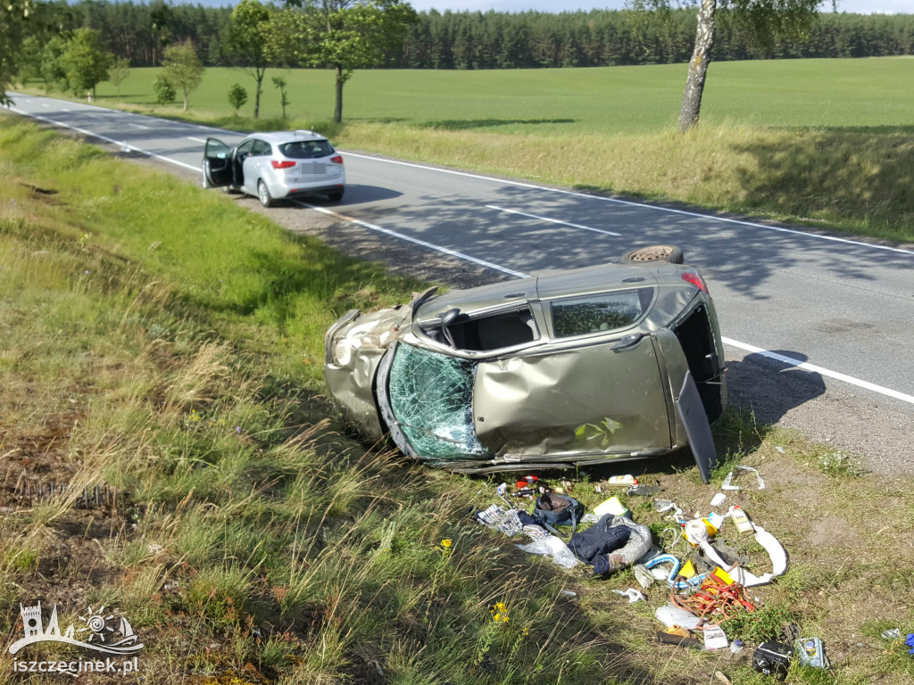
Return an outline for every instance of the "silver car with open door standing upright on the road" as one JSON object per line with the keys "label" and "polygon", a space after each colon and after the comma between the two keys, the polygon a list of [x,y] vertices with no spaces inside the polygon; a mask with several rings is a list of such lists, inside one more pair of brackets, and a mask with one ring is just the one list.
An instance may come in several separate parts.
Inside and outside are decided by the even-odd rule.
{"label": "silver car with open door standing upright on the road", "polygon": [[300,195],[343,199],[343,157],[314,131],[251,133],[235,147],[207,138],[203,187],[257,195],[263,206]]}

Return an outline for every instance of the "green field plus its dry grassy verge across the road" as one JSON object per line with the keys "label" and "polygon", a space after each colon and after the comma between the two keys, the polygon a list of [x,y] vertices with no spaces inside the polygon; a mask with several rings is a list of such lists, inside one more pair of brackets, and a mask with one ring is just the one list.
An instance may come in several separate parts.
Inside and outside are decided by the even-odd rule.
{"label": "green field plus its dry grassy verge across the road", "polygon": [[[242,131],[310,127],[343,148],[506,174],[592,192],[699,205],[900,241],[914,240],[914,59],[713,63],[698,129],[675,121],[685,65],[267,72],[209,68],[191,109],[154,104],[157,68],[133,69],[121,106]],[[288,121],[271,76],[289,82]],[[249,92],[239,117],[229,87]],[[37,84],[31,84],[37,92]],[[116,106],[111,84],[97,102]]]}

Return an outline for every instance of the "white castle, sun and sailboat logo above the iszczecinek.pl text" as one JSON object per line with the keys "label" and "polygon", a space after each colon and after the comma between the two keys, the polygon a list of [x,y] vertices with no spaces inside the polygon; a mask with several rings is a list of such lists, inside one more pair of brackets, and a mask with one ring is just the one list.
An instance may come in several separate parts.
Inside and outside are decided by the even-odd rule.
{"label": "white castle, sun and sailboat logo above the iszczecinek.pl text", "polygon": [[[22,615],[22,627],[26,637],[16,640],[9,646],[10,654],[16,654],[20,649],[36,642],[66,642],[68,645],[94,649],[104,654],[133,654],[143,648],[143,643],[137,642],[138,638],[127,617],[121,617],[117,630],[109,627],[108,621],[114,617],[104,615],[104,606],[98,611],[92,611],[90,606],[86,612],[87,616],[79,617],[84,626],[76,628],[70,624],[63,635],[60,635],[58,626],[57,605],[54,605],[51,611],[47,628],[42,626],[41,602],[38,602],[37,606],[20,604],[19,612]],[[75,638],[77,635],[85,640]]]}

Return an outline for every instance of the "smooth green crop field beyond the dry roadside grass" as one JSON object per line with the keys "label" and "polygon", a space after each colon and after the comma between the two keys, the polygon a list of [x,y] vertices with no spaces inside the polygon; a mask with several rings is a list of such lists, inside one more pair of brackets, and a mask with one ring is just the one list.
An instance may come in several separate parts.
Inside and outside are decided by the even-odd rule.
{"label": "smooth green crop field beyond the dry roadside grass", "polygon": [[[161,70],[133,69],[124,102],[152,105]],[[289,114],[324,120],[333,112],[333,75],[315,69],[267,72],[261,116],[280,115],[272,75],[289,81]],[[781,59],[720,62],[708,71],[702,121],[754,126],[914,126],[914,59]],[[249,91],[245,72],[209,68],[190,97],[194,110],[228,113],[226,93]],[[512,133],[651,132],[675,125],[685,65],[567,69],[357,71],[345,86],[344,118]],[[98,90],[111,99],[110,84]]]}

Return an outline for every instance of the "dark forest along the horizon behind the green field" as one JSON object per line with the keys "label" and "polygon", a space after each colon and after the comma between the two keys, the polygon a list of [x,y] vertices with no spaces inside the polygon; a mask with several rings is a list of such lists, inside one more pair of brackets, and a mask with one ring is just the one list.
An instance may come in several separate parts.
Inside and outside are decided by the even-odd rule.
{"label": "dark forest along the horizon behind the green field", "polygon": [[[94,28],[133,67],[158,66],[167,45],[189,41],[205,66],[239,64],[230,49],[231,7],[83,0],[58,2],[66,28]],[[686,62],[696,13],[639,16],[626,10],[564,12],[420,12],[383,64],[399,68],[603,67]],[[805,41],[760,47],[751,31],[718,12],[715,60],[860,58],[914,54],[914,16],[824,13]],[[250,67],[245,61],[243,66]]]}

